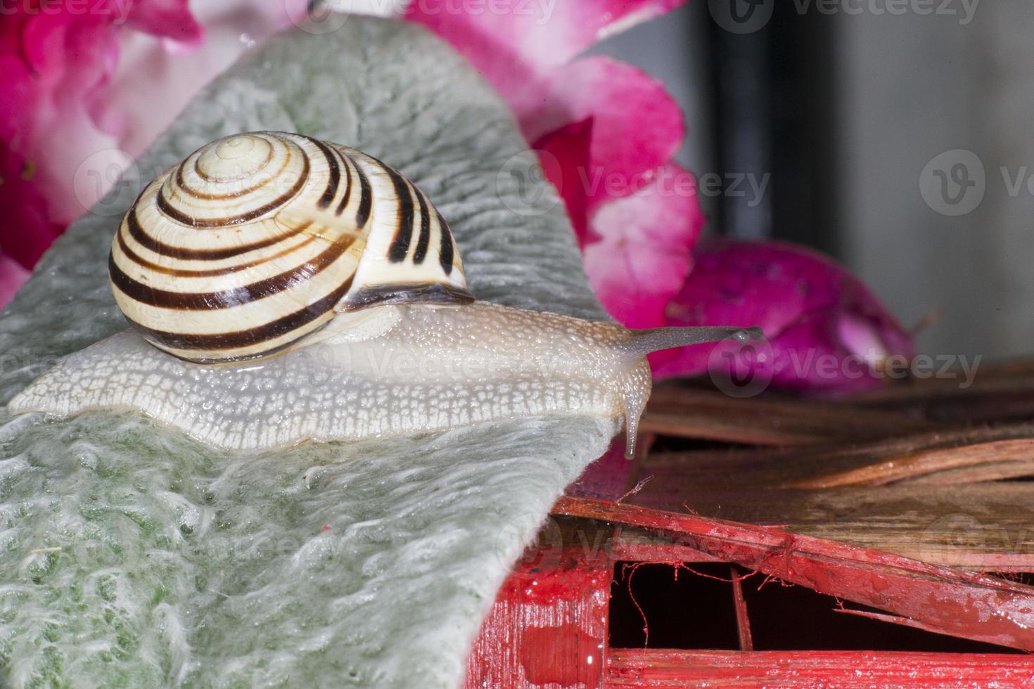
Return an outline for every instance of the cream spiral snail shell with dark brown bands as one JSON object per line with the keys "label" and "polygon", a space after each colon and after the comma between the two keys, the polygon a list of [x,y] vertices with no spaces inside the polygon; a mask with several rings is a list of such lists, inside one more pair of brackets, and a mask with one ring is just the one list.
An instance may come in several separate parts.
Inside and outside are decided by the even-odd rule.
{"label": "cream spiral snail shell with dark brown bands", "polygon": [[109,268],[129,322],[202,363],[283,350],[337,311],[474,299],[422,191],[355,149],[285,132],[221,138],[151,182]]}

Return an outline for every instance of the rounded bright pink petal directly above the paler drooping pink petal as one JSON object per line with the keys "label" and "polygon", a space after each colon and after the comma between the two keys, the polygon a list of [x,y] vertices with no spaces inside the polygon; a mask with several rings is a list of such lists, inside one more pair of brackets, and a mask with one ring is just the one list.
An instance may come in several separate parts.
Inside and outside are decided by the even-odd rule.
{"label": "rounded bright pink petal directly above the paler drooping pink petal", "polygon": [[663,83],[607,57],[586,58],[558,70],[537,102],[534,109],[518,114],[533,140],[542,132],[592,119],[589,164],[574,180],[589,199],[590,211],[648,185],[686,133],[678,103]]}

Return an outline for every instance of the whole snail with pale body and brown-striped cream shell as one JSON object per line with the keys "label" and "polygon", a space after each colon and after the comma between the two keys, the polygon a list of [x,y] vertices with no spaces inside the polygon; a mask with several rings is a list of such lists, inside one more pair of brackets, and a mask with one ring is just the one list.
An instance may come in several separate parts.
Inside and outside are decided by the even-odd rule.
{"label": "whole snail with pale body and brown-striped cream shell", "polygon": [[158,176],[109,272],[130,328],[66,356],[11,413],[133,409],[227,450],[575,414],[624,419],[631,456],[646,354],[750,337],[477,301],[422,191],[285,132],[218,139]]}

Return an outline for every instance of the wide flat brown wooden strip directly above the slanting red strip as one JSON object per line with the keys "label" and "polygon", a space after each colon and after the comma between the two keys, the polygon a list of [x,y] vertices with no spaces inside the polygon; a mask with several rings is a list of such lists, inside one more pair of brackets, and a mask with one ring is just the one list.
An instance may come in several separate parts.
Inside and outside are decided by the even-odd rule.
{"label": "wide flat brown wooden strip directly above the slanting red strip", "polygon": [[[986,571],[1034,571],[1034,486],[887,486],[828,491],[685,489],[653,480],[626,502],[814,536]],[[622,547],[621,543],[615,547]],[[640,552],[644,549],[639,547]],[[646,549],[648,550],[648,549]]]}

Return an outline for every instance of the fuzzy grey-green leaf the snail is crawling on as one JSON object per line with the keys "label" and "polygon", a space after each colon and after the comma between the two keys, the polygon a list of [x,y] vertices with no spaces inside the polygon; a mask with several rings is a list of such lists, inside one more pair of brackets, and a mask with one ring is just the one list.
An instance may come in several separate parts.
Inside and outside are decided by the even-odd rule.
{"label": "fuzzy grey-green leaf the snail is crawling on", "polygon": [[[398,22],[282,34],[199,95],[0,316],[0,404],[125,327],[107,281],[154,175],[238,131],[364,150],[449,219],[479,299],[605,317],[505,103]],[[452,687],[495,591],[607,419],[242,456],[130,412],[0,411],[0,686]]]}

